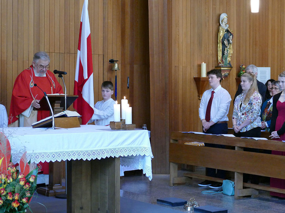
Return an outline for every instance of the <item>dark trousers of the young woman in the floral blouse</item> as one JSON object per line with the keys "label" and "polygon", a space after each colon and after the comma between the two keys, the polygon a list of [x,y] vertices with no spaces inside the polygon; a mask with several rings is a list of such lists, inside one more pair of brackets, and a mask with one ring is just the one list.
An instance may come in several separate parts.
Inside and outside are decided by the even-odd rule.
{"label": "dark trousers of the young woman in the floral blouse", "polygon": [[[253,129],[250,129],[249,131],[246,132],[237,132],[234,133],[234,136],[236,137],[257,137],[260,138],[261,137],[261,128],[260,127],[256,127]],[[255,148],[243,148],[243,151],[246,152],[259,152],[259,149],[255,149]],[[250,174],[243,174],[243,182],[247,183],[249,177],[251,176],[251,180],[250,183],[253,184],[259,184],[259,176],[258,175],[250,175]]]}

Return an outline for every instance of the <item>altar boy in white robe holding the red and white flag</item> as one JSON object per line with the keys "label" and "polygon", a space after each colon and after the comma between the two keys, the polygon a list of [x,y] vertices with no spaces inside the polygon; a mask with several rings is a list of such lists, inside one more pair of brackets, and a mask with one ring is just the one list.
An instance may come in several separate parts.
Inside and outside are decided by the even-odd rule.
{"label": "altar boy in white robe holding the red and white flag", "polygon": [[95,125],[107,126],[110,121],[114,121],[114,104],[116,102],[111,98],[113,95],[113,83],[104,81],[101,85],[102,101],[94,105],[94,114],[88,123],[94,121]]}

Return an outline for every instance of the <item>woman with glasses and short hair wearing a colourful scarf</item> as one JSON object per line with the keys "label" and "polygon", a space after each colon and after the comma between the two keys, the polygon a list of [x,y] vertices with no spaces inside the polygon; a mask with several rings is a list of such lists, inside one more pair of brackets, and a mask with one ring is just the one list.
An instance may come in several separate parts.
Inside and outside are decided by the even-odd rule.
{"label": "woman with glasses and short hair wearing a colourful scarf", "polygon": [[[269,81],[270,82],[270,81]],[[272,97],[266,100],[261,107],[261,129],[269,132],[271,124],[272,106],[273,106],[273,96],[280,93],[280,87],[278,81],[273,81],[271,84]]]}

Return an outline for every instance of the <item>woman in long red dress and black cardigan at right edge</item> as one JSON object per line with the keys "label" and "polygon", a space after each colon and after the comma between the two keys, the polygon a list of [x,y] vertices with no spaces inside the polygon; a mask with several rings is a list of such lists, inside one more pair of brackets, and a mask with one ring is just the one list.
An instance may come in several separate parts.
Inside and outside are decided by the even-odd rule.
{"label": "woman in long red dress and black cardigan at right edge", "polygon": [[[274,140],[285,140],[285,72],[280,73],[278,76],[280,89],[282,93],[278,93],[273,97],[273,108],[271,116],[271,138]],[[272,150],[273,155],[285,155],[285,152]],[[285,179],[270,178],[270,186],[285,189]],[[285,197],[285,194],[279,192],[270,192],[270,195]]]}

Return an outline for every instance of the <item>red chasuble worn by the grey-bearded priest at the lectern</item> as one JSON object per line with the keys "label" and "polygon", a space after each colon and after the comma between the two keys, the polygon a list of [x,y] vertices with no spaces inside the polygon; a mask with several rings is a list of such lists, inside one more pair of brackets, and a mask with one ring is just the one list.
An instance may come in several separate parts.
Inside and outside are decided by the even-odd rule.
{"label": "red chasuble worn by the grey-bearded priest at the lectern", "polygon": [[[47,94],[63,93],[61,85],[51,71],[47,70],[45,77],[36,77],[31,65],[21,72],[15,80],[8,124],[18,120],[16,116],[29,108],[34,99],[40,100],[44,96],[43,92],[34,84],[37,84]],[[48,116],[50,116],[49,111],[39,110],[37,120],[42,120]]]}

